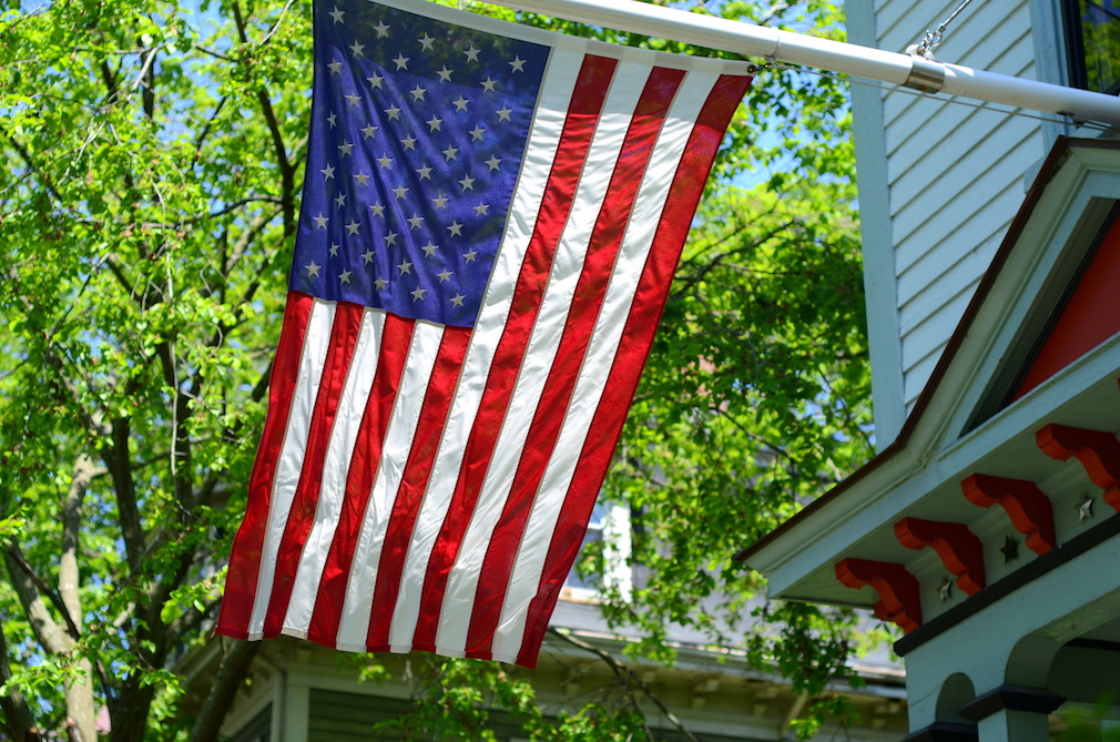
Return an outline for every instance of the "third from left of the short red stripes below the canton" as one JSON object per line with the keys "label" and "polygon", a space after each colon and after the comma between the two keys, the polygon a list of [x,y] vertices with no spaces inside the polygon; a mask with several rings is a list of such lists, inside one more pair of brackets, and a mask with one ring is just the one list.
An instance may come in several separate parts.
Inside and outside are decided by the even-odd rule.
{"label": "third from left of the short red stripes below the canton", "polygon": [[362,423],[354,440],[349,470],[346,473],[346,494],[338,525],[335,528],[330,549],[323,565],[319,592],[311,612],[307,638],[328,647],[334,647],[346,602],[346,584],[349,579],[351,563],[357,548],[358,534],[370,503],[373,480],[381,462],[381,448],[385,442],[385,426],[396,400],[401,375],[408,361],[409,343],[412,340],[412,319],[403,319],[393,314],[385,315],[377,352],[377,370],[374,372],[370,396],[362,412]]}

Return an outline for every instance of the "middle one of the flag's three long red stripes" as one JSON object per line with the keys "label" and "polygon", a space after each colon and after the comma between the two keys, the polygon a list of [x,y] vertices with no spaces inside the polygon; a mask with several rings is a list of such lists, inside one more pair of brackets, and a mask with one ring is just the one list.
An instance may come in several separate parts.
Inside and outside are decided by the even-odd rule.
{"label": "middle one of the flag's three long red stripes", "polygon": [[491,659],[494,632],[501,618],[517,547],[545,466],[560,436],[564,419],[561,410],[568,408],[596,317],[607,293],[608,282],[604,277],[610,275],[610,267],[618,256],[631,208],[642,183],[642,178],[635,174],[645,170],[683,77],[684,72],[681,69],[654,68],[635,108],[610,177],[607,197],[591,233],[588,256],[572,297],[556,361],[544,382],[505,508],[486,548],[467,632],[468,657]]}

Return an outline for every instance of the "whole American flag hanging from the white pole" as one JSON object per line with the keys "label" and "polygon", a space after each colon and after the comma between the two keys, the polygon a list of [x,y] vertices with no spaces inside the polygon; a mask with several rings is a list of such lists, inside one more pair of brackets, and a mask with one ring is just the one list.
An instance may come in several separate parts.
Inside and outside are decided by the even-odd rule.
{"label": "whole American flag hanging from the white pole", "polygon": [[307,171],[217,632],[535,665],[741,63],[315,9]]}

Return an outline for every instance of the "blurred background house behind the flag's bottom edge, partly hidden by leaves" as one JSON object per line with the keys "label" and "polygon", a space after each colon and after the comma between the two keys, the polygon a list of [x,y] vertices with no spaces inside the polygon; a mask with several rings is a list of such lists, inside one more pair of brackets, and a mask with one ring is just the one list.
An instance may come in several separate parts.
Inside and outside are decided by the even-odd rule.
{"label": "blurred background house behind the flag's bottom edge, partly hidden by leaves", "polygon": [[[597,509],[589,534],[617,528],[617,510]],[[641,571],[610,569],[608,579],[634,579]],[[596,604],[598,592],[578,575],[569,576],[538,667],[533,670],[494,665],[503,673],[532,684],[548,721],[575,713],[587,704],[604,709],[636,702],[656,740],[683,741],[693,735],[703,742],[785,742],[796,736],[796,722],[805,715],[809,698],[795,694],[774,674],[752,669],[741,653],[710,646],[706,634],[678,627],[670,639],[678,652],[673,667],[624,653],[633,640],[609,629]],[[221,642],[216,638],[184,657],[178,673],[190,688],[206,688],[217,671]],[[375,679],[362,679],[367,660],[319,644],[281,637],[264,641],[253,661],[249,683],[239,690],[222,727],[222,738],[234,742],[356,742],[372,739],[418,739],[374,731],[417,708],[417,699],[437,678],[431,655],[379,655],[383,669]],[[886,655],[871,656],[853,666],[865,685],[838,685],[856,712],[855,724],[825,723],[820,739],[853,742],[890,742],[906,730],[904,678],[897,662]],[[183,712],[193,713],[204,693],[188,693]],[[633,701],[632,701],[633,699]],[[528,734],[516,716],[478,704],[488,714],[488,729],[498,740],[524,740]],[[670,717],[672,714],[672,718]],[[675,720],[675,721],[674,721]],[[426,734],[422,739],[429,739]],[[456,739],[447,734],[438,739]]]}

